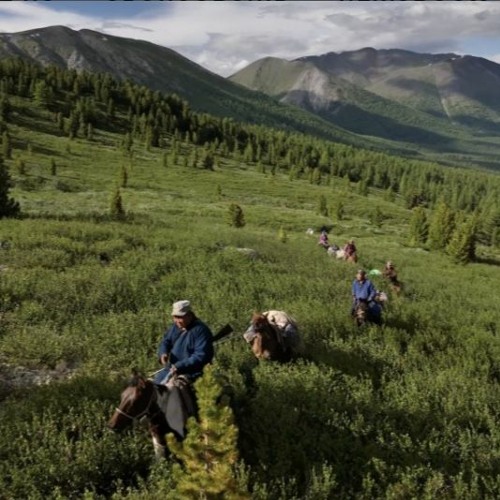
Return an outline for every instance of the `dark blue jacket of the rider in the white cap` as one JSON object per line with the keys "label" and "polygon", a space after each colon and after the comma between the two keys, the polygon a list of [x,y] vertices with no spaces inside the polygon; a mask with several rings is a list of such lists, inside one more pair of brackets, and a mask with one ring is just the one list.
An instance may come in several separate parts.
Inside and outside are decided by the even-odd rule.
{"label": "dark blue jacket of the rider in the white cap", "polygon": [[203,321],[196,318],[186,331],[175,324],[164,334],[158,347],[158,357],[169,354],[168,371],[172,365],[179,375],[188,375],[196,379],[202,374],[203,367],[212,361],[214,356],[213,335]]}

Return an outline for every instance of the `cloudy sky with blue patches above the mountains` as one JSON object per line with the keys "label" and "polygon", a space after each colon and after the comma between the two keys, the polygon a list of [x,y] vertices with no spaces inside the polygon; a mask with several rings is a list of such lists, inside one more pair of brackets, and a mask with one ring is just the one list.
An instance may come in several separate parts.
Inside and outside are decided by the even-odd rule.
{"label": "cloudy sky with blue patches above the mountains", "polygon": [[497,1],[0,2],[0,33],[63,25],[168,47],[221,76],[263,57],[364,47],[500,63]]}

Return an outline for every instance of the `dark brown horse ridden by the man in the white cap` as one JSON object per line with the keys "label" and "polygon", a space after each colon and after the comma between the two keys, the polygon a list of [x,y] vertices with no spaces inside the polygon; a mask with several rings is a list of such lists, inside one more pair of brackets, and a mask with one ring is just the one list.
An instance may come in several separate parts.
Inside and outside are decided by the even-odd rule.
{"label": "dark brown horse ridden by the man in the white cap", "polygon": [[147,419],[155,457],[157,460],[166,458],[165,436],[173,433],[182,440],[187,417],[195,414],[194,395],[191,397],[192,406],[189,407],[189,402],[186,404],[184,394],[177,387],[155,384],[134,372],[121,394],[120,404],[108,421],[108,428],[121,432],[134,422]]}

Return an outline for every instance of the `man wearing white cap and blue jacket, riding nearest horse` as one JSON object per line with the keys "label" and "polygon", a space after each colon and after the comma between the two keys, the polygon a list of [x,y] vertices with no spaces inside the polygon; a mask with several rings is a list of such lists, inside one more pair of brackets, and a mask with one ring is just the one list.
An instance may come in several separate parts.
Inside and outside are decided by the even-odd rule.
{"label": "man wearing white cap and blue jacket, riding nearest horse", "polygon": [[188,300],[172,306],[174,324],[165,332],[158,347],[158,360],[163,370],[155,375],[157,384],[173,375],[183,375],[191,382],[201,376],[203,367],[214,356],[212,332],[198,319]]}

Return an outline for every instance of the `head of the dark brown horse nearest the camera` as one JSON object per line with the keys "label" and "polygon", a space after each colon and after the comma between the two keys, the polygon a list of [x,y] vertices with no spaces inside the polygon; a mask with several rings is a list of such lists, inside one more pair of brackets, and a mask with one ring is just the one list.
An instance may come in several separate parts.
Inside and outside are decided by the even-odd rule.
{"label": "head of the dark brown horse nearest the camera", "polygon": [[154,384],[143,376],[134,373],[129,385],[122,392],[119,406],[108,422],[108,427],[121,431],[132,422],[147,416],[156,401]]}

